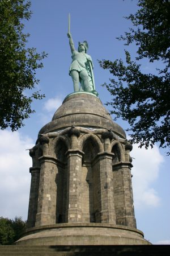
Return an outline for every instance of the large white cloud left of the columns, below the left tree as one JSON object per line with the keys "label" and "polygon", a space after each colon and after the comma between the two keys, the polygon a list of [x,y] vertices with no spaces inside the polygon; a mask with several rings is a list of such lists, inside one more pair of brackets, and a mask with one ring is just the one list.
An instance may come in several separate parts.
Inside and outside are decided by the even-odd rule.
{"label": "large white cloud left of the columns, below the left tree", "polygon": [[29,137],[18,131],[0,131],[0,216],[27,219],[32,160],[26,151]]}

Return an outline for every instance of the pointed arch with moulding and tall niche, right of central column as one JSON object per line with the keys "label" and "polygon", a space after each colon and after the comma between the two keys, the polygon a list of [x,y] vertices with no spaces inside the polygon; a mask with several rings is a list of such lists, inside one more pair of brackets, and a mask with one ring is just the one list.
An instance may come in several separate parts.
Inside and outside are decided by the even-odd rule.
{"label": "pointed arch with moulding and tall niche, right of central column", "polygon": [[[100,222],[99,212],[100,172],[93,160],[99,152],[104,151],[103,144],[95,134],[85,134],[80,138],[79,148],[84,152],[82,158],[82,220],[83,222]],[[97,184],[97,185],[96,185]],[[96,187],[97,186],[97,187]]]}

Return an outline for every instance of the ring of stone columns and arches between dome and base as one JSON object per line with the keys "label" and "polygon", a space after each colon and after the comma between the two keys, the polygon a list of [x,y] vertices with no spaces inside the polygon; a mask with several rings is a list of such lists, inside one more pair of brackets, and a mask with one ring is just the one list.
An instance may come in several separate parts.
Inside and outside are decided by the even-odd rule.
{"label": "ring of stone columns and arches between dome and base", "polygon": [[81,129],[40,137],[40,179],[32,174],[27,227],[103,222],[135,228],[130,144],[116,141],[111,130]]}

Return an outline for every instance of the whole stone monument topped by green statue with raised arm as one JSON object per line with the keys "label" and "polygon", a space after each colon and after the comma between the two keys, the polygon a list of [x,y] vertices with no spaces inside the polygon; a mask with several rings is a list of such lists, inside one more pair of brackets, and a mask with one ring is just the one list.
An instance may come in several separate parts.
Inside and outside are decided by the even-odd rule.
{"label": "whole stone monument topped by green statue with raised arm", "polygon": [[70,29],[67,36],[74,92],[29,151],[27,232],[16,243],[148,245],[134,216],[132,145],[98,97],[87,42],[76,51]]}

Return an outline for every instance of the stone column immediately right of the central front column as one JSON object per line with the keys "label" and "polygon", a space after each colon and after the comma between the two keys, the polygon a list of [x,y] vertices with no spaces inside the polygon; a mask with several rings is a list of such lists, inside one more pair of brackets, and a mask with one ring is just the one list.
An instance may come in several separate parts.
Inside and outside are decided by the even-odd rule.
{"label": "stone column immediately right of the central front column", "polygon": [[100,172],[101,222],[116,224],[113,197],[112,158],[113,153],[97,154]]}

